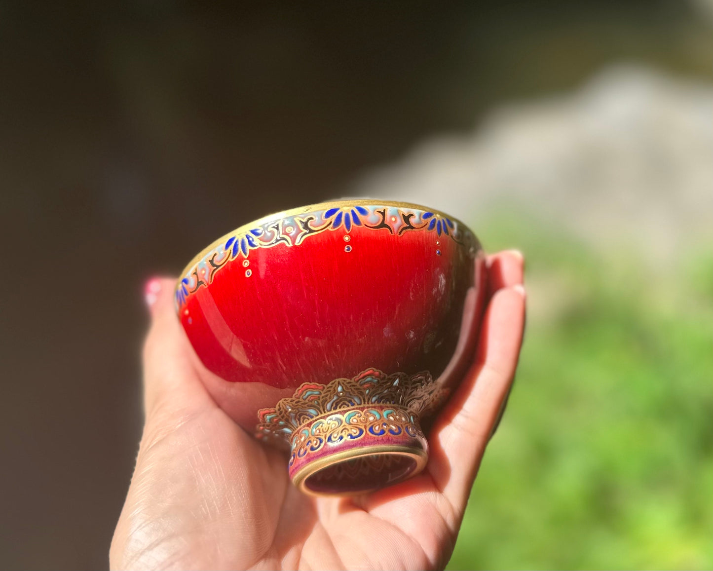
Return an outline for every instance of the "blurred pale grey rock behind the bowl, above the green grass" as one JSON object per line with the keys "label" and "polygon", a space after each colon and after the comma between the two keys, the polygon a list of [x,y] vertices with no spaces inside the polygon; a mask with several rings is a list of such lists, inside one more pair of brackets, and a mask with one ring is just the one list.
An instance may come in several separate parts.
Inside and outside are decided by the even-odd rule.
{"label": "blurred pale grey rock behind the bowl, above the green grass", "polygon": [[609,68],[576,93],[494,110],[471,135],[426,140],[352,194],[473,224],[530,212],[652,261],[713,239],[713,85]]}

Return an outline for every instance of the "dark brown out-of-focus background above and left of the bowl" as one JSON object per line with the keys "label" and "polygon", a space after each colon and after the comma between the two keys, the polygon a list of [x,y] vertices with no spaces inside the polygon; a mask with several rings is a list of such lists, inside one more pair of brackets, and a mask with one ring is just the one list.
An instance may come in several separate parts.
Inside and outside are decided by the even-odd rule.
{"label": "dark brown out-of-focus background above and left of the bowl", "polygon": [[[710,10],[0,1],[0,567],[107,567],[140,436],[145,279],[610,63],[709,82]],[[602,561],[457,553],[465,567]],[[711,565],[696,553],[670,561]]]}

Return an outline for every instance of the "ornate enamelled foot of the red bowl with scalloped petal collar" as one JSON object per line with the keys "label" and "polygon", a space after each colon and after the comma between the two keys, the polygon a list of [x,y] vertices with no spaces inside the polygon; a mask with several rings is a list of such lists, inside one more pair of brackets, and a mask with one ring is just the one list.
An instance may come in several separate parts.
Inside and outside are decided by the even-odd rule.
{"label": "ornate enamelled foot of the red bowl with scalloped petal collar", "polygon": [[427,372],[369,369],[327,385],[305,383],[260,411],[257,436],[289,443],[289,476],[313,495],[356,495],[416,475],[429,447],[419,415],[445,396]]}

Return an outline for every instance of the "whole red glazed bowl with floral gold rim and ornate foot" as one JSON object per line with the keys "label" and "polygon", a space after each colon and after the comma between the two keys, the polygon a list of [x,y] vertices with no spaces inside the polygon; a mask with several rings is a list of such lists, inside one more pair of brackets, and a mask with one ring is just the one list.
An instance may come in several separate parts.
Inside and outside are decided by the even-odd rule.
{"label": "whole red glazed bowl with floral gold rim and ornate foot", "polygon": [[307,493],[418,473],[420,418],[471,362],[481,246],[462,222],[381,200],[324,202],[242,226],[198,254],[175,300],[207,389],[258,438],[289,446]]}

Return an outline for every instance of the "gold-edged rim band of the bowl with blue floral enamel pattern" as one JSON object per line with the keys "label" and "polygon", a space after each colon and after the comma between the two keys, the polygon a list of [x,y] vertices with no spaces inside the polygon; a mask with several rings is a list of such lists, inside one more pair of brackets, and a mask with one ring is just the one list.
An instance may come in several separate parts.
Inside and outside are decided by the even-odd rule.
{"label": "gold-edged rim band of the bowl with blue floral enamel pattern", "polygon": [[[349,242],[352,228],[361,226],[371,230],[384,230],[401,236],[404,232],[422,230],[434,232],[436,236],[448,237],[473,250],[477,247],[476,237],[457,220],[451,220],[438,212],[419,210],[404,205],[345,205],[314,212],[299,212],[279,218],[267,219],[250,230],[239,232],[227,238],[225,243],[213,248],[199,262],[194,264],[180,279],[175,292],[177,307],[183,306],[190,294],[200,287],[210,284],[215,273],[237,257],[242,257],[245,275],[250,277],[250,250],[270,248],[283,244],[297,246],[312,235],[327,230],[342,228]],[[346,245],[345,250],[351,250]],[[440,254],[439,250],[436,250]]]}

